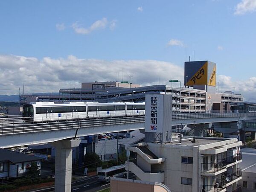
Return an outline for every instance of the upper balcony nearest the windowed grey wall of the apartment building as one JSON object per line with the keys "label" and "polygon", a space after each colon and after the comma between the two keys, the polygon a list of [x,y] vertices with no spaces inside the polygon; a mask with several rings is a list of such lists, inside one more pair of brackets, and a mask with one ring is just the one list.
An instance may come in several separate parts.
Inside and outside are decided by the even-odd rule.
{"label": "upper balcony nearest the windowed grey wall of the apartment building", "polygon": [[201,175],[215,176],[226,171],[222,163],[201,163]]}

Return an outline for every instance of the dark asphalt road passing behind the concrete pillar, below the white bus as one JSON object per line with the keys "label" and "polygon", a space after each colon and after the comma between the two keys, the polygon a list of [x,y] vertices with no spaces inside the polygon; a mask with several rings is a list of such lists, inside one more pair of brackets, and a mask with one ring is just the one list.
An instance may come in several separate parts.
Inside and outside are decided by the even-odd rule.
{"label": "dark asphalt road passing behind the concrete pillar, below the white bus", "polygon": [[[97,192],[109,187],[110,183],[102,183],[97,180],[96,176],[84,177],[72,182],[72,192]],[[42,189],[34,189],[27,192],[53,192],[54,186],[45,187]]]}

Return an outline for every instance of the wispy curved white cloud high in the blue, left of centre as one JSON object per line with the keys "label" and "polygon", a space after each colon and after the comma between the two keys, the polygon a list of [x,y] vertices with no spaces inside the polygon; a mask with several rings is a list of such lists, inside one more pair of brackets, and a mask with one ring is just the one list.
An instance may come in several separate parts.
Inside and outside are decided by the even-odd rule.
{"label": "wispy curved white cloud high in the blue, left of centre", "polygon": [[108,25],[107,18],[103,17],[101,20],[96,20],[90,27],[84,28],[81,27],[81,25],[76,22],[72,24],[72,28],[74,31],[78,34],[87,35],[97,29],[104,29]]}

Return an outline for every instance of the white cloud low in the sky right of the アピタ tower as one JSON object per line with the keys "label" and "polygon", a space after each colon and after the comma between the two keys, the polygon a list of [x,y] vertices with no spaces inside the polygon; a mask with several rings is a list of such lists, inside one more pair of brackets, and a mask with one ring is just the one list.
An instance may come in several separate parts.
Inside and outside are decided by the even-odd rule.
{"label": "white cloud low in the sky right of the \u30a2\u30d4\u30bf tower", "polygon": [[256,77],[250,77],[244,81],[233,81],[230,76],[219,75],[220,91],[231,90],[242,93],[247,101],[256,102]]}

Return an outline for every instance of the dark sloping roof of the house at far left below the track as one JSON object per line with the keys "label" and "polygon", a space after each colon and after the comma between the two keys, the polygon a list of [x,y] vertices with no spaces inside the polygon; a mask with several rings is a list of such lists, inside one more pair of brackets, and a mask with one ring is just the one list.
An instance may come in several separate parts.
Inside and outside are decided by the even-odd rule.
{"label": "dark sloping roof of the house at far left below the track", "polygon": [[20,163],[20,162],[29,162],[42,160],[41,157],[35,157],[33,155],[18,153],[15,151],[10,151],[8,149],[1,148],[0,149],[0,162],[2,161],[10,161],[12,163]]}

